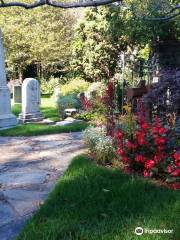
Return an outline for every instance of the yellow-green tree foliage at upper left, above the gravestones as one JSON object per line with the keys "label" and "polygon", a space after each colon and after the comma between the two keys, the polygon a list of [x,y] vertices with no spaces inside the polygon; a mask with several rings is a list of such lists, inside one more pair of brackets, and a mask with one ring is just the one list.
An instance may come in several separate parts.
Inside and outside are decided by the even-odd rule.
{"label": "yellow-green tree foliage at upper left, above the gravestones", "polygon": [[47,6],[0,9],[10,76],[19,76],[30,64],[39,75],[67,68],[74,21],[72,12]]}

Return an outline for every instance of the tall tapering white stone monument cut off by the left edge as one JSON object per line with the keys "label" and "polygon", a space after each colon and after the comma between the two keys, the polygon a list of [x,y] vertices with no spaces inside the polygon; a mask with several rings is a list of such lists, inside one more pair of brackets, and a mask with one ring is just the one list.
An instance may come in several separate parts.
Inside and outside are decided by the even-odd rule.
{"label": "tall tapering white stone monument cut off by the left edge", "polygon": [[2,33],[0,31],[0,128],[10,127],[16,124],[17,119],[11,112],[11,98],[6,82],[4,48]]}

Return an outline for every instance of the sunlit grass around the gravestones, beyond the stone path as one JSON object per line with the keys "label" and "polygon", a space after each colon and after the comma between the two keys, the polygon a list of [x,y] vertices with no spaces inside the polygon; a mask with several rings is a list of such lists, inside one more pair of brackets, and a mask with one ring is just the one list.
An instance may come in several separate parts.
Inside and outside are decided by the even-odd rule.
{"label": "sunlit grass around the gravestones, beyond the stone path", "polygon": [[[41,111],[45,118],[53,121],[59,120],[58,110],[51,98],[42,97]],[[18,116],[21,112],[21,105],[13,105],[12,112]],[[28,123],[15,126],[10,129],[1,130],[0,136],[38,136],[45,134],[78,132],[84,130],[87,126],[88,123],[86,122],[77,122],[66,126],[51,126],[47,124]]]}

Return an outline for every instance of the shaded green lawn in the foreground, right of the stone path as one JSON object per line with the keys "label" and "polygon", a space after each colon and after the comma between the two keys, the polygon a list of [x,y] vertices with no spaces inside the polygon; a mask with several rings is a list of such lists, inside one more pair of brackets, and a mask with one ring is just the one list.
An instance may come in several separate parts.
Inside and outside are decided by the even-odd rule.
{"label": "shaded green lawn in the foreground, right of the stone path", "polygon": [[[179,240],[179,193],[116,169],[73,159],[18,240]],[[173,229],[143,234],[134,229]]]}

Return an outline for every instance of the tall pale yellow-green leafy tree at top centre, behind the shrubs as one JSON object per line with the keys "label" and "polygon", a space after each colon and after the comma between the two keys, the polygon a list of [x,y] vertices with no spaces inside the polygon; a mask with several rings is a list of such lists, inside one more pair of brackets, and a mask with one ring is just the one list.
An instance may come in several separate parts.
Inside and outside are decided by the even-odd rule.
{"label": "tall pale yellow-green leafy tree at top centre, behind the shrubs", "polygon": [[[79,23],[73,45],[72,68],[86,80],[106,81],[114,75],[119,43],[116,35],[118,11],[93,8]],[[119,22],[118,22],[119,24]]]}

